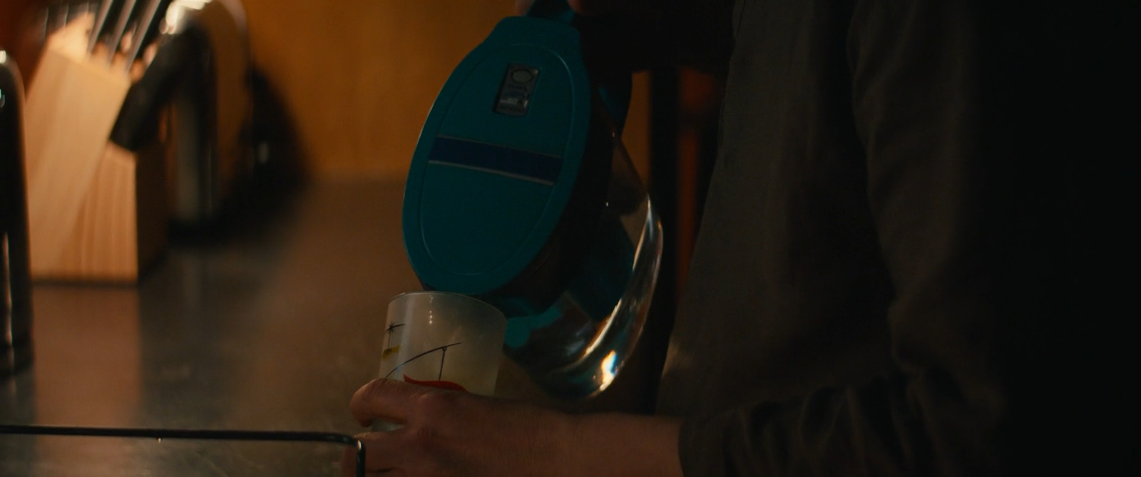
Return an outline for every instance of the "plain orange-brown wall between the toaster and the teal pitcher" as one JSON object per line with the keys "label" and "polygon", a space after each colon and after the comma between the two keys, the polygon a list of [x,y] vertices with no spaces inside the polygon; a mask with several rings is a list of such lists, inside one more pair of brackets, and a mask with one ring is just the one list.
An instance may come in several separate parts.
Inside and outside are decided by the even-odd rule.
{"label": "plain orange-brown wall between the toaster and the teal pitcher", "polygon": [[[510,0],[244,0],[254,64],[283,97],[310,170],[403,178],[448,73]],[[626,134],[645,173],[646,80]],[[644,176],[645,177],[645,176]]]}

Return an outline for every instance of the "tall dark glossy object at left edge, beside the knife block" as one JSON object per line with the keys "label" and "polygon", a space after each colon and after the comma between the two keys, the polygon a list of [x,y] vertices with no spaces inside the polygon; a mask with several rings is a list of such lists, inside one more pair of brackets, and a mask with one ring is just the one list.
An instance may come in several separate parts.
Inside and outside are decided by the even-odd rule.
{"label": "tall dark glossy object at left edge, beside the knife block", "polygon": [[32,362],[32,286],[19,71],[0,50],[0,377]]}

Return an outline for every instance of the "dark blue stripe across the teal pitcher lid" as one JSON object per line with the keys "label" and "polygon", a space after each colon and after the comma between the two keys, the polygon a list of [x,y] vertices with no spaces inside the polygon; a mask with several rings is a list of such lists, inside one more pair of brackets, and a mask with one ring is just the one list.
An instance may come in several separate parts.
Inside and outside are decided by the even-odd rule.
{"label": "dark blue stripe across the teal pitcher lid", "polygon": [[428,162],[476,169],[547,185],[553,185],[559,177],[559,170],[563,169],[563,159],[555,155],[446,136],[436,136],[428,154]]}

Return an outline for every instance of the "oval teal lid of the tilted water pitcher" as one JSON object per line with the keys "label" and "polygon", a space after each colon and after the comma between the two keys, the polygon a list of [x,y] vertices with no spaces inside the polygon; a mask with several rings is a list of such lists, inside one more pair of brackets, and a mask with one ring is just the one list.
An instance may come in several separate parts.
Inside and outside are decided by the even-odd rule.
{"label": "oval teal lid of the tilted water pitcher", "polygon": [[543,259],[588,151],[591,95],[578,32],[548,19],[505,18],[460,63],[404,193],[404,244],[426,286],[489,293]]}

